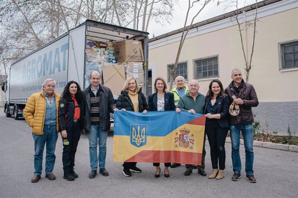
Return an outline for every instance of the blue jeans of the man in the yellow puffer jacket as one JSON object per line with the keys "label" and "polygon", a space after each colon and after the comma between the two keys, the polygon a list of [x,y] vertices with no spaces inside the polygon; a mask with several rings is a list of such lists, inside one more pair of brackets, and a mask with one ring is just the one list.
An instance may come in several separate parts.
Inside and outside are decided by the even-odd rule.
{"label": "blue jeans of the man in the yellow puffer jacket", "polygon": [[34,175],[41,175],[43,150],[46,144],[46,175],[53,172],[56,160],[55,148],[58,139],[56,125],[44,125],[43,135],[33,135],[34,140]]}

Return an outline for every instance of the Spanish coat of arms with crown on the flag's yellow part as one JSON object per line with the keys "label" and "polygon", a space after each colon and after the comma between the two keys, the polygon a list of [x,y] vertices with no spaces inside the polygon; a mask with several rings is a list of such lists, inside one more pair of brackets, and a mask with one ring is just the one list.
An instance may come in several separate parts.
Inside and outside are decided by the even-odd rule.
{"label": "Spanish coat of arms with crown on the flag's yellow part", "polygon": [[188,148],[189,149],[193,149],[193,145],[194,145],[194,135],[190,133],[189,129],[179,129],[180,134],[178,137],[178,133],[176,133],[176,137],[175,137],[175,148],[178,148],[178,144],[180,148]]}

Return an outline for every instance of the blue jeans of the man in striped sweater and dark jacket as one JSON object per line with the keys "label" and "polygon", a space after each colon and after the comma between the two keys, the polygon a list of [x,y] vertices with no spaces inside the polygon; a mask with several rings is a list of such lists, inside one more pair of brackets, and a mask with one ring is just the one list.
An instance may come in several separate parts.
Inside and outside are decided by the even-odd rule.
{"label": "blue jeans of the man in striped sweater and dark jacket", "polygon": [[[97,170],[97,164],[99,162],[99,168],[105,167],[105,158],[107,153],[107,137],[108,132],[102,131],[99,124],[91,124],[91,130],[87,134],[89,140],[89,156],[91,170]],[[99,147],[97,157],[97,144]],[[98,160],[97,160],[98,159]]]}

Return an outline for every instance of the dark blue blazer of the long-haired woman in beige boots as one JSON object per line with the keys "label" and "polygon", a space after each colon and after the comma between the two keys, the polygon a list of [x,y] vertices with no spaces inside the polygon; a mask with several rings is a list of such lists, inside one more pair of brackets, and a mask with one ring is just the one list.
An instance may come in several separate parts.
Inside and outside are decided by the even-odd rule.
{"label": "dark blue blazer of the long-haired woman in beige boots", "polygon": [[[205,110],[204,113],[207,114],[207,105],[208,103],[211,101],[211,98],[209,96],[206,96],[205,98]],[[230,105],[230,101],[229,101],[229,97],[225,96],[225,97],[219,97],[218,103],[215,104],[218,105],[219,110],[217,113],[221,114],[221,118],[220,119],[215,119],[218,121],[220,127],[222,128],[227,128],[228,127],[228,109],[229,109],[229,105]]]}

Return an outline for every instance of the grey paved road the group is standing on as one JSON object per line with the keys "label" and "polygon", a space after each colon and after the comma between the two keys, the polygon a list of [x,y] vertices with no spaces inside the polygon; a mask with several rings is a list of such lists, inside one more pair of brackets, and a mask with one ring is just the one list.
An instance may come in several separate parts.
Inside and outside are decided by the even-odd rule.
{"label": "grey paved road the group is standing on", "polygon": [[[239,181],[232,176],[230,144],[226,144],[225,178],[208,179],[197,171],[186,177],[185,166],[170,169],[172,177],[154,178],[151,163],[139,163],[143,172],[132,177],[122,175],[122,166],[113,161],[113,135],[107,141],[106,168],[110,176],[97,175],[89,179],[88,140],[81,136],[78,144],[75,181],[63,179],[62,141],[56,147],[56,180],[49,181],[44,172],[38,183],[31,183],[33,175],[33,139],[24,120],[6,118],[0,108],[0,198],[298,198],[298,153],[254,148],[255,176],[257,183],[249,183],[244,177]],[[211,173],[209,146],[206,146],[206,172]],[[241,146],[242,165],[244,148]],[[245,172],[242,171],[244,175]]]}

